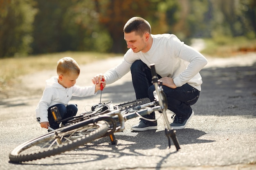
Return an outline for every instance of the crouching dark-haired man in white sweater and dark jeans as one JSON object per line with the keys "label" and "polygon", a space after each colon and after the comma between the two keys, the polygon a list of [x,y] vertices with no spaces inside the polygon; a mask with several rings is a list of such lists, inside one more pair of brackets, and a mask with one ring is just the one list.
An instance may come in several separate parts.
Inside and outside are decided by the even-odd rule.
{"label": "crouching dark-haired man in white sweater and dark jeans", "polygon": [[[195,49],[181,42],[173,34],[152,35],[150,24],[140,17],[133,17],[124,26],[124,40],[129,49],[124,60],[115,68],[92,79],[94,84],[105,77],[111,84],[131,71],[136,98],[154,100],[155,87],[151,83],[150,64],[163,82],[168,109],[175,113],[173,129],[185,128],[194,112],[191,105],[197,102],[202,84],[199,71],[207,64],[206,58]],[[140,119],[132,130],[157,129],[155,113]]]}

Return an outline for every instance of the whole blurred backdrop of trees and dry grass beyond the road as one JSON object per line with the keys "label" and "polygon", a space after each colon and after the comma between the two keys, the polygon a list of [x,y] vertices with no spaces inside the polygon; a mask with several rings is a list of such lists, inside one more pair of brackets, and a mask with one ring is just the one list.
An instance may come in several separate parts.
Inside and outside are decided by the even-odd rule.
{"label": "whole blurred backdrop of trees and dry grass beyond the road", "polygon": [[0,92],[65,56],[82,65],[123,55],[133,16],[206,56],[256,52],[256,0],[0,0]]}

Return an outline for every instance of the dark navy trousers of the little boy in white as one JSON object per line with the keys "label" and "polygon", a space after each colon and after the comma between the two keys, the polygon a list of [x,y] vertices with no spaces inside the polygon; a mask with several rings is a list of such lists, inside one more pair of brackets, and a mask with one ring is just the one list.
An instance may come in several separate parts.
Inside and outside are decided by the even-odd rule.
{"label": "dark navy trousers of the little boy in white", "polygon": [[[67,107],[64,104],[56,104],[54,106],[58,108],[58,111],[62,119],[75,116],[78,110],[76,104],[69,104],[67,105]],[[52,113],[51,113],[51,108],[53,108],[54,106],[51,106],[48,109],[48,120],[51,128],[58,129],[60,127],[60,124],[54,121],[54,117],[52,116]],[[66,124],[66,123],[67,122],[62,122],[62,124]]]}

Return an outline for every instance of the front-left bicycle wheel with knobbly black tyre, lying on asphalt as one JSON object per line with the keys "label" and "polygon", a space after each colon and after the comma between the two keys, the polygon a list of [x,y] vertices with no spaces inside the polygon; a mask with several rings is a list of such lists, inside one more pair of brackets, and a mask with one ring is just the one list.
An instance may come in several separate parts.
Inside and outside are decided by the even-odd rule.
{"label": "front-left bicycle wheel with knobbly black tyre, lying on asphalt", "polygon": [[[78,123],[54,130],[17,146],[9,154],[9,159],[19,163],[57,155],[103,137],[108,131],[108,126],[106,121],[98,121],[96,124],[79,127]],[[77,132],[79,134],[74,135]]]}

